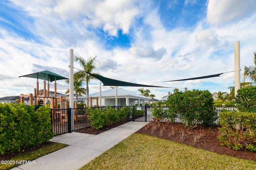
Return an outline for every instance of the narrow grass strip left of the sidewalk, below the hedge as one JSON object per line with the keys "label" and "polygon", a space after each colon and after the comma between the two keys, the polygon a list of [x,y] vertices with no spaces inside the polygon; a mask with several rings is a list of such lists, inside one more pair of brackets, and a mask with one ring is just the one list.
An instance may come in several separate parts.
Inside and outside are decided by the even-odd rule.
{"label": "narrow grass strip left of the sidewalk, below the hedge", "polygon": [[[44,148],[37,149],[32,152],[22,153],[18,156],[15,156],[14,158],[12,158],[10,160],[14,160],[15,162],[16,162],[16,160],[35,160],[37,158],[40,158],[41,156],[52,153],[56,150],[62,149],[67,146],[68,145],[65,145],[62,143],[53,143],[50,145],[46,145]],[[9,170],[16,166],[19,166],[19,164],[0,164],[0,170]]]}

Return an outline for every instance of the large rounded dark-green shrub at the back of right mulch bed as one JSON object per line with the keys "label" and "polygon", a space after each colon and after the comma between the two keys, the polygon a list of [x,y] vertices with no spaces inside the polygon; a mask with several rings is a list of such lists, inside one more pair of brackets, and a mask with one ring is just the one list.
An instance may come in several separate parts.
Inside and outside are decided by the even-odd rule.
{"label": "large rounded dark-green shrub at the back of right mulch bed", "polygon": [[166,106],[170,114],[177,114],[188,129],[196,127],[200,122],[203,126],[212,125],[217,119],[212,94],[208,90],[174,92],[168,96]]}

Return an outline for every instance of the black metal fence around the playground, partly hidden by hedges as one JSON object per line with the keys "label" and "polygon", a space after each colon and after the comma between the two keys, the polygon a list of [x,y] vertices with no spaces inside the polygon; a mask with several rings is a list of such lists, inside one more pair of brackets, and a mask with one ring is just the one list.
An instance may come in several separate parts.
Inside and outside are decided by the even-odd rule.
{"label": "black metal fence around the playground, partly hidden by hedges", "polygon": [[[122,107],[127,107],[128,112],[127,120],[129,121],[154,121],[153,110],[155,106],[112,106],[116,109],[121,109]],[[156,106],[158,107],[158,106]],[[99,110],[106,110],[107,107],[92,107],[92,109],[98,108]],[[217,118],[220,115],[220,111],[223,109],[233,111],[236,110],[234,106],[215,106],[217,112]],[[158,107],[159,109],[159,107]],[[162,106],[163,111],[167,110],[168,107]],[[90,114],[88,108],[68,108],[68,109],[51,109],[52,117],[52,132],[55,135],[61,135],[64,133],[71,133],[79,129],[90,127]],[[72,117],[74,117],[74,125],[72,125]],[[168,119],[163,119],[162,121],[168,121]],[[182,123],[179,117],[174,119],[176,123]],[[218,119],[214,122],[218,125]]]}

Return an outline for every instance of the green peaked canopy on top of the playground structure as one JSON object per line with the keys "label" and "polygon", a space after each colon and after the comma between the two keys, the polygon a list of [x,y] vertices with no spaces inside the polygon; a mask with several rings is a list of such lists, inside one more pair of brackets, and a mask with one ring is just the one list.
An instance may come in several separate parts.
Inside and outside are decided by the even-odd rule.
{"label": "green peaked canopy on top of the playground structure", "polygon": [[50,72],[48,70],[40,71],[40,72],[35,72],[35,73],[32,73],[32,74],[27,74],[27,75],[19,76],[19,77],[37,78],[37,79],[41,79],[41,80],[48,80],[50,82],[53,82],[55,80],[65,80],[65,79],[68,79],[66,77],[60,76],[59,74],[56,74],[54,72]]}

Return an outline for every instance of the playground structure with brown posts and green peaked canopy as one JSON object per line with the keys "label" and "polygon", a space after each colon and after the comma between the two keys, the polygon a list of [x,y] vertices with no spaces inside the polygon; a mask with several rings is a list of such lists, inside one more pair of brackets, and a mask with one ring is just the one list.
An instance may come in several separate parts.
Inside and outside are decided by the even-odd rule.
{"label": "playground structure with brown posts and green peaked canopy", "polygon": [[[60,119],[60,121],[67,121],[67,108],[69,104],[69,98],[68,97],[63,97],[59,96],[57,97],[57,83],[56,80],[63,80],[63,79],[68,79],[63,76],[60,76],[58,74],[55,74],[50,71],[42,71],[42,72],[36,72],[24,76],[19,76],[19,77],[30,77],[30,78],[37,78],[36,82],[36,88],[34,89],[34,96],[33,94],[21,94],[20,95],[20,103],[24,103],[24,98],[29,98],[29,105],[32,106],[33,104],[35,105],[35,109],[37,106],[39,107],[40,105],[48,105],[52,109],[52,120],[54,119]],[[48,79],[48,84],[47,84],[47,90],[46,90],[46,77]],[[38,79],[42,79],[43,81],[43,90],[39,90],[39,82]],[[50,84],[49,81],[54,82],[54,96],[50,96]],[[82,99],[82,100],[90,100],[90,107],[92,107],[92,100],[96,99],[97,100],[97,107],[98,107],[98,98],[90,98],[90,99]],[[33,102],[34,101],[34,102]],[[60,104],[60,107],[58,105]],[[74,102],[74,120],[77,122],[79,118],[85,118],[86,119],[86,105],[83,106],[84,114],[78,115],[78,104],[77,102]]]}

